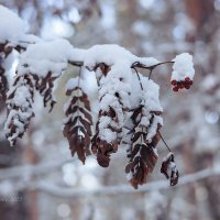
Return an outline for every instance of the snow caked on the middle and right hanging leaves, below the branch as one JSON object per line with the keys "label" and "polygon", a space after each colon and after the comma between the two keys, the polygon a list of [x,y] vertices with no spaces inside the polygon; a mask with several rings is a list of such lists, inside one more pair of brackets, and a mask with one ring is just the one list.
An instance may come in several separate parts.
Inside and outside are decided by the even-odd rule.
{"label": "snow caked on the middle and right hanging leaves, below the branch", "polygon": [[[128,74],[129,72],[130,74]],[[100,109],[108,112],[109,108],[112,107],[119,119],[118,128],[120,129],[127,123],[127,117],[131,116],[125,116],[122,108],[135,109],[142,103],[144,106],[144,117],[142,117],[143,121],[140,122],[140,125],[150,124],[150,119],[152,117],[151,112],[163,111],[158,100],[160,87],[153,80],[140,75],[141,84],[143,86],[142,90],[135,73],[132,73],[130,68],[127,69],[125,75],[121,75],[120,73],[121,72],[117,75],[117,69],[111,68],[108,75],[101,78],[101,88],[99,90]],[[122,78],[122,80],[120,80],[120,78]],[[116,92],[118,92],[119,98],[116,97]],[[129,92],[131,95],[129,95]],[[123,103],[123,106],[121,103]],[[111,131],[106,130],[107,124],[109,123],[106,118],[108,117],[101,117],[99,119],[99,122],[101,121],[101,123],[99,123],[99,130],[101,131],[99,136],[101,140],[108,139],[109,141],[113,141],[110,140],[110,138],[113,139],[116,135],[110,135]],[[106,123],[103,123],[103,120],[106,120]],[[147,134],[148,142],[151,142],[152,138],[156,134],[157,124],[163,124],[163,119],[162,117],[155,116]]]}

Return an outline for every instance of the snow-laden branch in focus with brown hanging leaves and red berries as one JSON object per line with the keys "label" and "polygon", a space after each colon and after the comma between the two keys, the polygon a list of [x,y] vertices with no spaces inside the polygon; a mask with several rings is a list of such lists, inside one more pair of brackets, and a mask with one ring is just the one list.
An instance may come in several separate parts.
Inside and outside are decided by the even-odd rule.
{"label": "snow-laden branch in focus with brown hanging leaves and red berries", "polygon": [[[90,100],[79,85],[74,82],[75,86],[67,89],[70,99],[65,107],[64,135],[68,139],[72,155],[77,152],[85,163],[91,151],[98,164],[107,167],[111,154],[125,144],[129,157],[125,172],[130,183],[134,188],[145,184],[158,156],[156,145],[162,138],[163,109],[158,99],[160,87],[136,68],[148,69],[151,76],[157,66],[173,64],[173,90],[189,89],[195,74],[191,55],[184,53],[172,61],[160,62],[154,57],[139,57],[116,44],[82,50],[74,47],[66,40],[45,42],[26,34],[16,14],[3,7],[0,8],[1,12],[10,21],[9,28],[0,22],[0,50],[3,52],[0,65],[4,66],[8,53],[14,50],[20,53],[12,88],[7,88],[4,69],[0,68],[0,85],[3,85],[1,96],[6,97],[9,90],[9,114],[4,130],[11,145],[22,138],[34,116],[35,92],[43,97],[44,107],[50,106],[52,110],[56,103],[53,97],[54,82],[68,64],[87,68],[96,74],[98,111],[97,116],[91,116]],[[14,31],[11,25],[13,22]],[[80,81],[81,76],[77,80]],[[97,119],[95,127],[92,117]]]}

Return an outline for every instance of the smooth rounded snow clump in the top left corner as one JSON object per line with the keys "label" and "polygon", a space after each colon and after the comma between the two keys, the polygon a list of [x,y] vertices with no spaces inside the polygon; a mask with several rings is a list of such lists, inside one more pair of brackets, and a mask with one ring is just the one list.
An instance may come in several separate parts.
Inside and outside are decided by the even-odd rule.
{"label": "smooth rounded snow clump in the top left corner", "polygon": [[8,8],[0,6],[0,43],[16,44],[25,33],[24,22]]}

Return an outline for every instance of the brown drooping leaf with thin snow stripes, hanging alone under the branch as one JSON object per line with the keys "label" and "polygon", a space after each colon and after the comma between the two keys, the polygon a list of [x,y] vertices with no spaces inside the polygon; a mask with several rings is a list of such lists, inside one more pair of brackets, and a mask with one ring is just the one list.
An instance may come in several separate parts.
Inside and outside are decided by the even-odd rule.
{"label": "brown drooping leaf with thin snow stripes, hanging alone under the branch", "polygon": [[[77,89],[81,90],[81,88],[75,87],[66,92],[67,96],[73,95],[73,97],[70,98],[70,102],[68,102],[69,106],[65,112],[68,121],[64,127],[64,135],[69,142],[72,156],[77,153],[78,158],[85,164],[86,156],[90,155],[89,146],[92,118],[89,112],[90,105],[87,95],[81,90],[81,96],[74,96],[73,91]],[[85,109],[82,107],[85,107]]]}

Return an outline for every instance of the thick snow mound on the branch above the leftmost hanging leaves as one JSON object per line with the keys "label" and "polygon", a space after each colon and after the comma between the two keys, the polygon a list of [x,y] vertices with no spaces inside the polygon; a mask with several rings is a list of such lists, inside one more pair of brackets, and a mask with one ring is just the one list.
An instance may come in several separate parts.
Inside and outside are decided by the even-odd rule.
{"label": "thick snow mound on the branch above the leftmost hanging leaves", "polygon": [[61,75],[67,67],[72,48],[66,40],[31,44],[20,57],[19,74],[32,73],[44,77],[52,72],[54,75]]}

